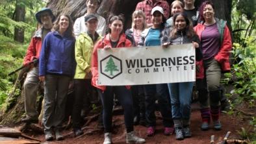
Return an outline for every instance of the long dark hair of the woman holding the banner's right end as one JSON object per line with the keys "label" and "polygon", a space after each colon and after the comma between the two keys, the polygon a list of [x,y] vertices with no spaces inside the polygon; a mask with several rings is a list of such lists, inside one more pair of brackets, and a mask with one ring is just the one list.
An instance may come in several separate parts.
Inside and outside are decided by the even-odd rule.
{"label": "long dark hair of the woman holding the banner's right end", "polygon": [[188,38],[192,38],[196,32],[194,31],[193,27],[192,27],[192,23],[191,21],[188,19],[188,16],[186,16],[186,14],[184,12],[179,12],[177,14],[174,14],[173,16],[173,29],[170,32],[170,38],[174,39],[177,38],[177,34],[178,34],[178,30],[175,27],[175,20],[177,18],[177,16],[183,16],[183,18],[186,21],[186,28],[184,30],[182,30],[181,32],[185,32],[186,36],[188,36]]}

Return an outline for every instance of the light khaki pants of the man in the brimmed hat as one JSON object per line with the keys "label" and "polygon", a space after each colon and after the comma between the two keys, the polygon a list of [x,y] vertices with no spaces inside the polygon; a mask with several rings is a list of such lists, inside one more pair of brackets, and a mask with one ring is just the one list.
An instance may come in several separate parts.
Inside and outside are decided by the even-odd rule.
{"label": "light khaki pants of the man in the brimmed hat", "polygon": [[38,78],[38,67],[33,67],[28,73],[23,84],[25,92],[25,112],[28,117],[38,119],[36,110],[36,97],[38,95],[38,86],[40,80]]}

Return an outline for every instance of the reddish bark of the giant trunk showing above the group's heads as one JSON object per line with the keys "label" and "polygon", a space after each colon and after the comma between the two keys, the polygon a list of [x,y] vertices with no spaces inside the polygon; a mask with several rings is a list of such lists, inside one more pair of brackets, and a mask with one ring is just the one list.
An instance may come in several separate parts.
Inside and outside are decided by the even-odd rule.
{"label": "reddish bark of the giant trunk showing above the group's heads", "polygon": [[[109,15],[124,14],[125,29],[131,27],[131,15],[136,8],[138,2],[142,0],[101,0],[97,13],[106,20]],[[173,0],[167,0],[172,3]],[[199,7],[205,0],[196,1],[196,7]],[[215,16],[220,19],[227,20],[227,25],[231,29],[231,6],[232,0],[215,0]],[[73,21],[86,13],[85,0],[49,0],[47,7],[53,10],[55,16],[64,12],[70,14]]]}

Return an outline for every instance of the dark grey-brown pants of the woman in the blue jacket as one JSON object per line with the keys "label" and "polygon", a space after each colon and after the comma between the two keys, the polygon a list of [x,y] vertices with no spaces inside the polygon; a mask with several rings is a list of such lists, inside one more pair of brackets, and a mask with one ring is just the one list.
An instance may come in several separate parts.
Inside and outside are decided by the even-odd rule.
{"label": "dark grey-brown pants of the woman in the blue jacket", "polygon": [[60,128],[65,115],[66,96],[71,77],[46,75],[44,82],[44,130]]}

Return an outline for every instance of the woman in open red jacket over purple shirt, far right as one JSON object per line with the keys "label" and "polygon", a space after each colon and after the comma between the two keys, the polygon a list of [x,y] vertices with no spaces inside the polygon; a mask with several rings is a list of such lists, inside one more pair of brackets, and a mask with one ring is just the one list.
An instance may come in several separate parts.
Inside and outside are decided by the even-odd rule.
{"label": "woman in open red jacket over purple shirt, far right", "polygon": [[[201,129],[209,129],[211,115],[214,129],[220,130],[222,128],[219,121],[220,77],[222,72],[230,70],[231,36],[226,21],[214,18],[214,6],[211,1],[202,3],[199,15],[202,22],[198,23],[194,30],[201,41],[205,68],[205,78],[197,84],[203,119]],[[208,104],[208,94],[211,110]]]}

